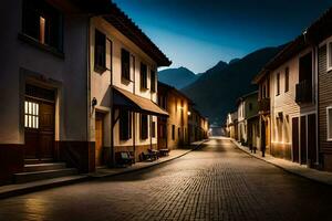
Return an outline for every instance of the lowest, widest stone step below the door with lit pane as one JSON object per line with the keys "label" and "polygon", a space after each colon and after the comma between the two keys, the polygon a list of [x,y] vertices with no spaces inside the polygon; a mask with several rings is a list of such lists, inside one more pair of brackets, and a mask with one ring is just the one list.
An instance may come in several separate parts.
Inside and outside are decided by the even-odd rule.
{"label": "lowest, widest stone step below the door with lit pane", "polygon": [[35,180],[52,179],[58,177],[77,175],[75,168],[64,168],[64,169],[53,169],[53,170],[43,170],[34,172],[20,172],[14,175],[15,183],[31,182]]}

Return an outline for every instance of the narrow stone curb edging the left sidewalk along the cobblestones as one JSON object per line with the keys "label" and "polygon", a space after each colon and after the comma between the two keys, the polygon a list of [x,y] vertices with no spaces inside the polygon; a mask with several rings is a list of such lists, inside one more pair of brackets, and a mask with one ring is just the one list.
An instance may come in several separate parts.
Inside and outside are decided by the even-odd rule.
{"label": "narrow stone curb edging the left sidewalk along the cobblestones", "polygon": [[[115,176],[120,176],[120,175],[125,175],[125,173],[129,173],[129,172],[144,170],[144,169],[147,169],[147,168],[151,168],[151,167],[162,165],[164,162],[169,162],[170,160],[174,160],[174,159],[178,159],[178,158],[180,158],[180,157],[198,149],[208,139],[203,140],[201,143],[195,145],[195,147],[193,147],[191,149],[189,149],[188,151],[186,151],[181,155],[178,155],[178,156],[176,156],[174,158],[170,158],[170,159],[166,159],[166,160],[160,161],[160,162],[146,165],[146,166],[141,167],[141,168],[129,169],[129,170],[120,171],[120,172],[111,173],[111,175],[98,176],[98,177],[97,176],[92,176],[92,175],[81,175],[81,177],[69,179],[69,180],[54,181],[54,182],[49,182],[49,183],[43,183],[43,185],[35,185],[35,186],[30,186],[30,187],[12,189],[12,190],[9,190],[9,191],[0,192],[0,199],[6,199],[6,198],[10,198],[10,197],[18,197],[18,196],[28,194],[28,193],[32,193],[32,192],[38,192],[38,191],[52,189],[52,188],[56,188],[56,187],[64,187],[64,186],[74,185],[74,183],[79,183],[79,182],[97,180],[97,179],[102,179],[102,178],[115,177]],[[0,189],[1,189],[1,187],[0,187]]]}

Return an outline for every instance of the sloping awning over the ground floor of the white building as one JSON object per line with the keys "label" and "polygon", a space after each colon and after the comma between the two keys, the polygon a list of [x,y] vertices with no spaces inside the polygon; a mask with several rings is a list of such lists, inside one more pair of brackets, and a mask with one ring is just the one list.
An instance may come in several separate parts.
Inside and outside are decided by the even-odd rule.
{"label": "sloping awning over the ground floor of the white building", "polygon": [[151,99],[137,96],[116,86],[113,86],[113,92],[114,106],[148,115],[168,116],[166,110],[162,109]]}

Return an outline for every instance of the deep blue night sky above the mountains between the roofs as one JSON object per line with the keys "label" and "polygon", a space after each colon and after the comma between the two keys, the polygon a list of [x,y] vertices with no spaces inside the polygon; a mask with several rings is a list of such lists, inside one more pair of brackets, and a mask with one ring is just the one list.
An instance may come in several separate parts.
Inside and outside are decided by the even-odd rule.
{"label": "deep blue night sky above the mountains between the roofs", "polygon": [[173,61],[200,73],[264,46],[283,44],[332,0],[115,0]]}

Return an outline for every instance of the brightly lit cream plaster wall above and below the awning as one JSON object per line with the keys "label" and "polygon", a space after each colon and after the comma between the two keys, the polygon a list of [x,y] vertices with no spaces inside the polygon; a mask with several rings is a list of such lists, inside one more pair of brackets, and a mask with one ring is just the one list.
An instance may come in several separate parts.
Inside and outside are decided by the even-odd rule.
{"label": "brightly lit cream plaster wall above and below the awning", "polygon": [[[112,42],[112,53],[111,46],[106,48],[106,67],[107,70],[104,73],[96,73],[94,71],[94,33],[95,29],[103,32],[106,35],[107,42]],[[135,93],[138,96],[152,99],[154,103],[157,101],[157,93],[151,92],[151,70],[154,70],[157,74],[157,65],[156,63],[145,54],[136,44],[131,42],[126,36],[124,36],[121,32],[118,32],[113,25],[106,22],[104,19],[96,17],[91,20],[90,27],[90,56],[91,56],[91,98],[96,97],[98,105],[96,108],[107,109],[110,112],[110,91],[108,87],[111,85],[111,77],[113,85],[126,90],[128,92]],[[131,70],[131,82],[123,82],[121,76],[121,50],[127,50],[131,55],[135,57],[135,66],[134,71]],[[112,55],[112,64],[110,63]],[[141,62],[147,65],[147,85],[148,90],[141,91]],[[156,87],[157,90],[157,87]],[[105,102],[102,102],[105,101]],[[115,116],[118,115],[118,112],[115,112]],[[153,120],[157,125],[157,118],[152,116]],[[134,118],[133,118],[134,119]],[[138,145],[149,145],[157,144],[157,138],[151,138],[151,128],[148,128],[148,138],[145,140],[141,139],[139,135],[139,114],[135,114],[135,144]],[[94,140],[94,114],[92,110],[91,115],[91,136],[90,139]],[[120,131],[118,131],[118,122],[114,127],[114,145],[115,146],[133,146],[133,138],[128,140],[120,140]],[[105,128],[105,136],[111,136],[111,127]],[[157,136],[157,131],[156,131]],[[132,137],[134,137],[134,130],[132,131]],[[105,141],[105,140],[104,140]]]}

